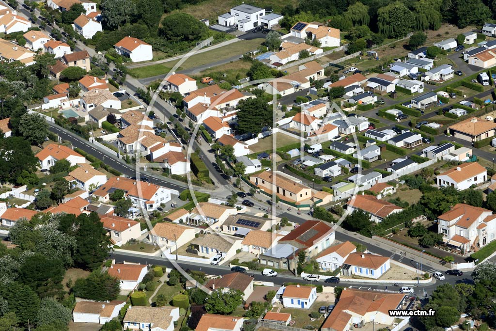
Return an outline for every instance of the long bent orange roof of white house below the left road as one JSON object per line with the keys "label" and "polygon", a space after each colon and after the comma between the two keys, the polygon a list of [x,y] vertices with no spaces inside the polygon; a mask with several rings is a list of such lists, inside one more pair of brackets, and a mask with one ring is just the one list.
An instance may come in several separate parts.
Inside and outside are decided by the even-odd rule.
{"label": "long bent orange roof of white house below the left road", "polygon": [[112,177],[93,194],[97,197],[103,197],[106,196],[111,189],[123,190],[124,192],[127,192],[128,196],[141,197],[142,199],[150,200],[155,193],[161,189],[161,186],[124,177]]}

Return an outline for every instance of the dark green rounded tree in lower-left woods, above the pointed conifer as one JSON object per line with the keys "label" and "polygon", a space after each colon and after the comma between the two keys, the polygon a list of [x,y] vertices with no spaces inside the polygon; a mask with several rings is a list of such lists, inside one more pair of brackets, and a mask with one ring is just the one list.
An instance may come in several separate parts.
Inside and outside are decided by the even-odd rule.
{"label": "dark green rounded tree in lower-left woods, above the pointed conifer", "polygon": [[35,289],[40,297],[55,296],[62,292],[64,274],[62,261],[35,254],[25,259],[18,280]]}

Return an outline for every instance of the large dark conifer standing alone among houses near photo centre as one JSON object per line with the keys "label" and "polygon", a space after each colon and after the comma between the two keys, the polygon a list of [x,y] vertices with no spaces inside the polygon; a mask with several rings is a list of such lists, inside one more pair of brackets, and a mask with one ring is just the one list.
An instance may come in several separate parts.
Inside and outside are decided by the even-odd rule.
{"label": "large dark conifer standing alone among houses near photo centre", "polygon": [[258,134],[264,127],[272,127],[273,114],[262,98],[249,98],[238,103],[238,130]]}

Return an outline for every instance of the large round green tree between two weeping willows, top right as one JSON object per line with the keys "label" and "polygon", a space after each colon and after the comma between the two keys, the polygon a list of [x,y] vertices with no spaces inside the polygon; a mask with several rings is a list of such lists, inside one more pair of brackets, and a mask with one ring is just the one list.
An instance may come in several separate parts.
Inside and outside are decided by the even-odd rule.
{"label": "large round green tree between two weeping willows, top right", "polygon": [[387,38],[401,38],[413,29],[413,14],[402,2],[396,1],[377,11],[379,33]]}

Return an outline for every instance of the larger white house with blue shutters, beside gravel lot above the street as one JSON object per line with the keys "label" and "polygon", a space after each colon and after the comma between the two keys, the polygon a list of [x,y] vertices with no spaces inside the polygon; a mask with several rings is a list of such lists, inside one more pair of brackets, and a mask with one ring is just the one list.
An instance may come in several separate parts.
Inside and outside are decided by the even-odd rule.
{"label": "larger white house with blue shutters, beside gravel lot above the street", "polygon": [[346,258],[341,273],[343,276],[358,275],[377,279],[391,267],[390,259],[371,253],[351,253]]}

